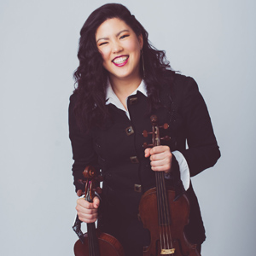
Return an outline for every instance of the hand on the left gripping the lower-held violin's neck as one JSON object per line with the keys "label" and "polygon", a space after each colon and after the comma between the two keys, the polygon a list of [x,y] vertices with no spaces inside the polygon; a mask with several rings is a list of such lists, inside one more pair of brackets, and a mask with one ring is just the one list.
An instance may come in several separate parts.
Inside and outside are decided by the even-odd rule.
{"label": "hand on the left gripping the lower-held violin's neck", "polygon": [[[77,195],[82,195],[82,191],[79,190]],[[93,199],[93,202],[79,198],[77,200],[76,210],[78,212],[79,219],[85,223],[94,223],[98,217],[98,207],[100,206],[100,200],[97,196]]]}

